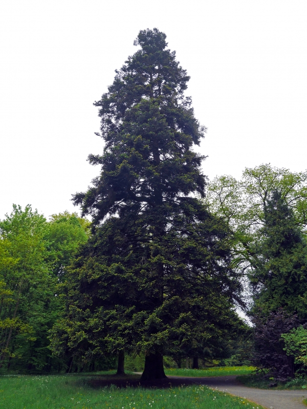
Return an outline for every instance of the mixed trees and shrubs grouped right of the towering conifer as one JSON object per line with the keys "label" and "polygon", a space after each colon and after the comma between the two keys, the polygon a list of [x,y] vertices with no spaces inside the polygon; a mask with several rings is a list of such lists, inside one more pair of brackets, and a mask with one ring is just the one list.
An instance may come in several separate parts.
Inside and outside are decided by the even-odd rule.
{"label": "mixed trees and shrubs grouped right of the towering conifer", "polygon": [[252,362],[275,379],[305,374],[307,172],[270,164],[240,181],[215,178],[206,203],[232,231],[232,267],[246,281]]}

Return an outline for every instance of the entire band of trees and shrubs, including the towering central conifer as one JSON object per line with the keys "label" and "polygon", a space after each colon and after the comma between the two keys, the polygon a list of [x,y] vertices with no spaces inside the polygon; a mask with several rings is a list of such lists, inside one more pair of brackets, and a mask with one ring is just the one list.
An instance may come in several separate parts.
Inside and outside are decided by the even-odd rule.
{"label": "entire band of trees and shrubs, including the towering central conifer", "polygon": [[0,365],[94,370],[116,359],[123,373],[125,355],[139,354],[142,379],[160,379],[163,356],[194,367],[244,356],[253,332],[255,365],[294,376],[304,364],[293,342],[306,343],[307,174],[261,165],[208,183],[189,76],[158,29],[135,45],[95,102],[104,149],[89,156],[99,176],[74,195],[82,217],[47,222],[14,206],[0,223]]}

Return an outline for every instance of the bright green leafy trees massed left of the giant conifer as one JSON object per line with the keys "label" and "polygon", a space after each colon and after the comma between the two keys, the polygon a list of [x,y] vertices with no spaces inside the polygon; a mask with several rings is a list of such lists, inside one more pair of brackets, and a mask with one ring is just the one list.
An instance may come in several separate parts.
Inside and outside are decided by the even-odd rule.
{"label": "bright green leafy trees massed left of the giant conifer", "polygon": [[0,221],[0,368],[49,371],[48,331],[58,317],[58,277],[87,240],[89,222],[75,213],[54,214],[48,223],[13,205]]}

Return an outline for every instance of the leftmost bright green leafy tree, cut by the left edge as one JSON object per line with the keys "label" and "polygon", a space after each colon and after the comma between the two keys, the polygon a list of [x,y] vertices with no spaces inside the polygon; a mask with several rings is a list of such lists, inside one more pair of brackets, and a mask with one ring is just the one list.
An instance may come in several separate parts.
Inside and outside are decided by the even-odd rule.
{"label": "leftmost bright green leafy tree, cut by the left edge", "polygon": [[41,334],[53,324],[58,302],[56,278],[47,261],[47,230],[45,218],[30,206],[22,210],[14,205],[0,222],[0,366],[25,355],[29,365],[41,366],[45,357],[42,363],[39,356],[50,355]]}

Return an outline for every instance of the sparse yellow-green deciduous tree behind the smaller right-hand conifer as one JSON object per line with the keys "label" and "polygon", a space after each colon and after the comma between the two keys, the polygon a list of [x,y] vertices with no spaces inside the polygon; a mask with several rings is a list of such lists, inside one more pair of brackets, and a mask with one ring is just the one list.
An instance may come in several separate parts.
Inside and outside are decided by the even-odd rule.
{"label": "sparse yellow-green deciduous tree behind the smaller right-hand conifer", "polygon": [[[254,276],[254,270],[263,261],[264,247],[261,247],[261,243],[265,239],[267,209],[274,191],[280,193],[280,200],[284,206],[288,206],[292,214],[291,225],[300,231],[300,240],[304,241],[307,224],[306,172],[292,173],[288,169],[263,164],[246,168],[239,181],[222,176],[208,185],[205,203],[213,214],[225,220],[232,231],[232,267],[242,276],[243,281],[248,275]],[[281,230],[279,234],[282,234]],[[300,260],[302,262],[302,254]],[[248,293],[249,280],[245,278],[245,282]]]}

